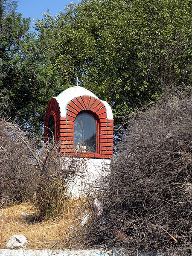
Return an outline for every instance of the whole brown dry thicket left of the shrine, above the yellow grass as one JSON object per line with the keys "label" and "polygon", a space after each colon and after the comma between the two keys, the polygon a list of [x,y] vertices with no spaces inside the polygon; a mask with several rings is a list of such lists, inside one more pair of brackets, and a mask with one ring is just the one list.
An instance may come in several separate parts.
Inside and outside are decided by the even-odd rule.
{"label": "whole brown dry thicket left of the shrine, above the yellow grass", "polygon": [[[0,120],[0,205],[30,201],[39,217],[55,217],[67,199],[66,177],[77,171],[63,165],[59,143],[29,139],[17,125]],[[71,175],[73,176],[73,175]]]}

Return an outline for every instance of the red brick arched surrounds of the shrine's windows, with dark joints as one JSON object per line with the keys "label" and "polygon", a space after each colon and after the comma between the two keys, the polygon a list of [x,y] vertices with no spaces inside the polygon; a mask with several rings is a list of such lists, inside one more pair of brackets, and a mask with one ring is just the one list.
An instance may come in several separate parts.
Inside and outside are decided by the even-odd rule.
{"label": "red brick arched surrounds of the shrine's windows, with dark joints", "polygon": [[[77,156],[93,158],[111,158],[113,155],[113,119],[108,119],[105,105],[93,96],[79,96],[72,99],[66,108],[66,117],[61,117],[58,102],[51,99],[45,117],[48,126],[49,116],[55,113],[55,140],[62,140],[61,152],[67,156],[74,156],[74,122],[79,113],[86,112],[93,115],[97,122],[97,152],[81,153]],[[45,127],[44,138],[47,141],[48,129]]]}

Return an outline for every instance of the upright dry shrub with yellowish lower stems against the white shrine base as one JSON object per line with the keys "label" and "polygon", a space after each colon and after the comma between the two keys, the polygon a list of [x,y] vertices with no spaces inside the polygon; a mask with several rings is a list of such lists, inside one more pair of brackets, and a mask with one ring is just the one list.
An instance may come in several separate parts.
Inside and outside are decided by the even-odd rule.
{"label": "upright dry shrub with yellowish lower stems against the white shrine base", "polygon": [[69,183],[79,170],[75,157],[69,160],[59,152],[60,143],[44,145],[41,151],[41,172],[37,179],[35,206],[41,217],[58,218],[70,198]]}

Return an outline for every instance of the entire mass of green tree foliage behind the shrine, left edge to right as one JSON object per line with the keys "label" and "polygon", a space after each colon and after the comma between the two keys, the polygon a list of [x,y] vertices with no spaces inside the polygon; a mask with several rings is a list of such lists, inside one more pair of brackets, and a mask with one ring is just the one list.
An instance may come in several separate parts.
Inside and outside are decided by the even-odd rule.
{"label": "entire mass of green tree foliage behind the shrine, left edge to right", "polygon": [[113,108],[115,124],[165,87],[192,85],[191,0],[84,0],[36,21],[0,1],[1,115],[39,131],[52,96],[75,85]]}

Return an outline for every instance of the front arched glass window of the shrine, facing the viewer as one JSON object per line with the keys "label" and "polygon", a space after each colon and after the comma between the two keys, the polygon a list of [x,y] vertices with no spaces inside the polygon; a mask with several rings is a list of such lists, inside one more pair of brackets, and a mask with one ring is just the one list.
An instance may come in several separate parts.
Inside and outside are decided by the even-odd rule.
{"label": "front arched glass window of the shrine, facing the viewer", "polygon": [[75,119],[74,149],[96,153],[96,120],[89,113],[80,113]]}

